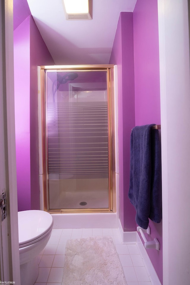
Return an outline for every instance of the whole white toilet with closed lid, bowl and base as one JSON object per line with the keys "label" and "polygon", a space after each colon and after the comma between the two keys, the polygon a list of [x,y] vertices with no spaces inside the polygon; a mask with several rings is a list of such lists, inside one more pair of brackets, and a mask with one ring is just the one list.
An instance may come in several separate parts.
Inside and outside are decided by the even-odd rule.
{"label": "whole white toilet with closed lid, bowl and base", "polygon": [[38,254],[45,248],[53,228],[52,216],[41,210],[18,212],[21,285],[34,285],[38,277]]}

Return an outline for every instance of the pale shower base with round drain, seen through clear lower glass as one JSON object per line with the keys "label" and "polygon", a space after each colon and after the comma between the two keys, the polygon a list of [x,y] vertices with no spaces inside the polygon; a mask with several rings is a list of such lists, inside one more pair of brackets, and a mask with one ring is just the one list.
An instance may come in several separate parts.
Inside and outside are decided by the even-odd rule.
{"label": "pale shower base with round drain, seen through clear lower glass", "polygon": [[55,179],[49,181],[49,189],[50,209],[109,208],[108,180],[105,178]]}

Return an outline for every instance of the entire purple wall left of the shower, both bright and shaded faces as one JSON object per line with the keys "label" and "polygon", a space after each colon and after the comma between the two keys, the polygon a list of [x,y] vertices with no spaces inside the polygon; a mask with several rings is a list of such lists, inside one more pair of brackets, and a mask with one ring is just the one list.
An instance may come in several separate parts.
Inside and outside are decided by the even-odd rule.
{"label": "entire purple wall left of the shower, both bright and shaded faces", "polygon": [[[14,8],[15,21],[20,17],[21,12],[16,6]],[[27,13],[29,8],[26,8],[27,5],[23,6]],[[38,65],[54,65],[54,61],[32,16],[29,15],[14,31],[15,135],[19,211],[39,209]]]}

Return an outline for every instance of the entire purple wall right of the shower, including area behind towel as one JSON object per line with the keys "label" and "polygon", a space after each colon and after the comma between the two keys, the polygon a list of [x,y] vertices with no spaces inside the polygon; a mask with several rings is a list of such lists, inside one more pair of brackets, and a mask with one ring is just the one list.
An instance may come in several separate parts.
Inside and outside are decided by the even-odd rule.
{"label": "entire purple wall right of the shower, including area behind towel", "polygon": [[[131,129],[161,121],[157,0],[137,0],[133,13],[121,13],[110,64],[118,66],[119,218],[124,231],[133,231],[135,211],[128,199]],[[162,282],[162,222],[149,225],[147,239],[157,238],[160,251],[147,252]]]}

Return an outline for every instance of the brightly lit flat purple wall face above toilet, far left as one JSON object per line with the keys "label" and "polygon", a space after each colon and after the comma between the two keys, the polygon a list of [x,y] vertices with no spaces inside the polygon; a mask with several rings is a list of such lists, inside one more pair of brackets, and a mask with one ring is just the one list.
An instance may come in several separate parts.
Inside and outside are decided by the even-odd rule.
{"label": "brightly lit flat purple wall face above toilet, far left", "polygon": [[30,209],[30,18],[14,31],[18,210]]}

